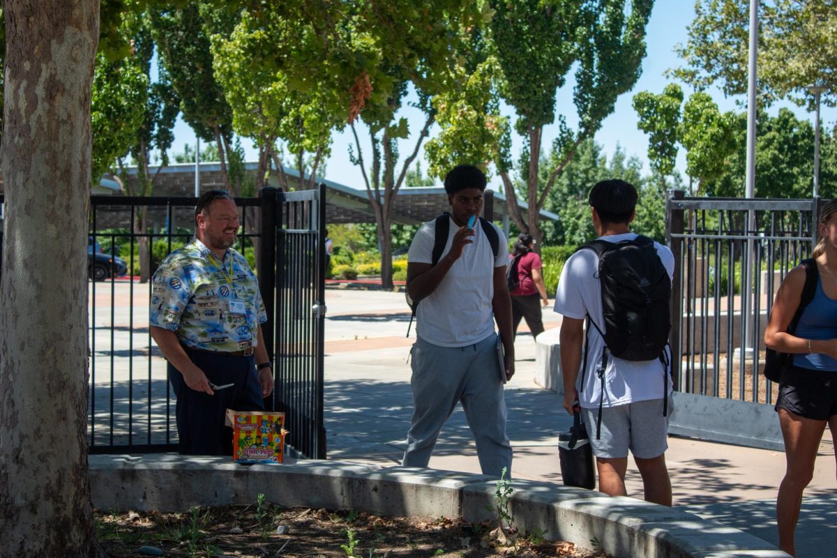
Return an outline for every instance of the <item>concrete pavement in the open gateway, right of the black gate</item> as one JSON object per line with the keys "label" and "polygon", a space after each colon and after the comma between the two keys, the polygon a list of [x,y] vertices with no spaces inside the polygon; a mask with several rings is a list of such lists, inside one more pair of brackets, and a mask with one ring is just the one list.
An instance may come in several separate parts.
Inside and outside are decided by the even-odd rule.
{"label": "concrete pavement in the open gateway, right of the black gate", "polygon": [[[332,459],[398,464],[412,413],[407,358],[409,313],[401,293],[326,291],[326,431]],[[560,316],[544,309],[547,328]],[[411,330],[415,335],[415,324]],[[506,387],[513,475],[561,483],[557,434],[572,419],[561,398],[533,382],[535,343],[525,325],[516,342],[516,376]],[[720,520],[773,544],[778,542],[774,505],[784,474],[781,452],[670,438],[666,453],[675,506]],[[479,473],[474,443],[457,408],[439,437],[433,468]],[[642,498],[633,463],[629,495]],[[797,530],[798,556],[837,555],[834,446],[821,445],[814,481],[805,493]]]}

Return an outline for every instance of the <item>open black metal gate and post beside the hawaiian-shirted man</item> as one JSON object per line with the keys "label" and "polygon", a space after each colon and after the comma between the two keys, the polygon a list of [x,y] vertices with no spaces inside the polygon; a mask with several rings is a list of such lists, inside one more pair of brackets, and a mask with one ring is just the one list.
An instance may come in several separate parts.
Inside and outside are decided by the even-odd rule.
{"label": "open black metal gate and post beside the hawaiian-shirted man", "polygon": [[[264,188],[262,196],[262,261],[275,256],[275,265],[259,267],[262,297],[265,305],[275,305],[276,316],[264,330],[275,361],[271,404],[285,412],[290,444],[306,457],[325,459],[326,187],[302,192]],[[270,231],[275,236],[269,239]],[[273,292],[265,289],[269,284]]]}

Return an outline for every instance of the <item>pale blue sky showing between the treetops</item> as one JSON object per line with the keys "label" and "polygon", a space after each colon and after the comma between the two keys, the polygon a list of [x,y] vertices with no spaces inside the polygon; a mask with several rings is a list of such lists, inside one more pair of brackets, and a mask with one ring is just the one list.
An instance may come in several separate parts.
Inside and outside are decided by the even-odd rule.
{"label": "pale blue sky showing between the treetops", "polygon": [[[644,171],[649,171],[647,157],[648,139],[644,132],[639,131],[636,127],[637,116],[631,106],[631,102],[633,96],[639,91],[649,90],[655,94],[659,94],[665,88],[665,85],[669,83],[670,80],[664,76],[665,70],[674,68],[680,63],[680,59],[677,58],[674,52],[675,44],[686,42],[686,26],[691,23],[694,13],[694,0],[658,0],[655,3],[647,28],[647,54],[642,65],[642,75],[634,90],[619,97],[614,113],[604,120],[602,129],[598,131],[595,137],[596,141],[603,146],[603,151],[608,156],[608,159],[612,156],[617,146],[622,146],[628,156],[638,156],[643,161]],[[691,94],[691,90],[685,86],[684,92],[686,98]],[[736,105],[736,101],[743,102],[746,100],[743,97],[725,98],[717,90],[711,90],[709,93],[713,96],[722,111],[746,110],[743,108],[743,105],[741,108]],[[774,105],[769,110],[770,114],[775,114],[783,106],[793,110],[800,119],[810,120],[812,122],[814,120],[813,114],[789,103]],[[573,105],[572,79],[568,80],[568,83],[561,90],[558,90],[556,107],[557,115],[565,115],[567,117],[567,124],[574,128],[578,123],[578,116],[576,115],[575,105]],[[504,114],[511,116],[511,122],[513,124],[515,121],[514,111],[507,106],[504,106],[502,111]],[[823,120],[823,130],[830,130],[837,123],[837,109],[822,107],[820,114]],[[408,119],[410,131],[414,134],[418,133],[421,126],[424,125],[423,115],[419,110],[408,107],[402,110],[400,115]],[[431,137],[438,130],[438,126],[434,126],[431,129]],[[360,133],[361,128],[358,128],[358,131]],[[545,128],[544,141],[542,142],[544,149],[548,149],[551,146],[552,139],[556,133],[557,125],[551,125]],[[327,161],[325,177],[349,187],[362,188],[363,179],[361,171],[357,166],[352,165],[348,157],[349,143],[354,142],[351,130],[347,127],[343,132],[335,132],[332,135],[332,140],[331,157]],[[362,148],[368,150],[368,140],[363,135],[361,135],[361,141]],[[411,138],[402,143],[400,151],[403,156],[412,152],[414,141]],[[175,141],[172,147],[172,153],[182,152],[184,144],[189,143],[191,146],[194,146],[194,142],[194,132],[178,118],[177,125],[175,126]],[[242,146],[244,146],[247,159],[255,160],[256,151],[252,146],[252,142],[243,138]],[[516,136],[516,134],[512,134],[511,156],[513,161],[516,161],[517,156],[519,156],[521,146],[521,138]],[[813,158],[813,153],[811,156]],[[417,161],[421,161],[422,169],[426,174],[428,164],[424,160],[424,150],[419,153]],[[677,167],[685,178],[686,155],[682,149],[679,152]],[[492,186],[496,186],[498,183],[499,179],[496,177],[491,180]]]}

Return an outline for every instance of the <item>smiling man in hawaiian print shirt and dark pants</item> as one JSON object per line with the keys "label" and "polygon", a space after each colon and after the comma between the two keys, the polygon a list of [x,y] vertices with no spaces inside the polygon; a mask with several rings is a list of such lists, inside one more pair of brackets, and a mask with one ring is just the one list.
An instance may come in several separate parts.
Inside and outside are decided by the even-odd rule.
{"label": "smiling man in hawaiian print shirt and dark pants", "polygon": [[183,454],[232,455],[226,409],[263,410],[263,397],[273,392],[260,326],[267,315],[253,270],[231,248],[238,231],[229,193],[204,193],[195,238],[151,279],[151,337],[168,361]]}

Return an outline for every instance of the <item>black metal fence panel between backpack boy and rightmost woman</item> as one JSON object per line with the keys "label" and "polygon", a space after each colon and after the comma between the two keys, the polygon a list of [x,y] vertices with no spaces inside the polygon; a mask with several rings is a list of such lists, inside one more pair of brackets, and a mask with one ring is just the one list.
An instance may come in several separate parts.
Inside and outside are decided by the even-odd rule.
{"label": "black metal fence panel between backpack boy and rightmost woman", "polygon": [[773,402],[773,382],[759,373],[764,330],[785,274],[812,251],[820,203],[670,192],[670,339],[681,392]]}

